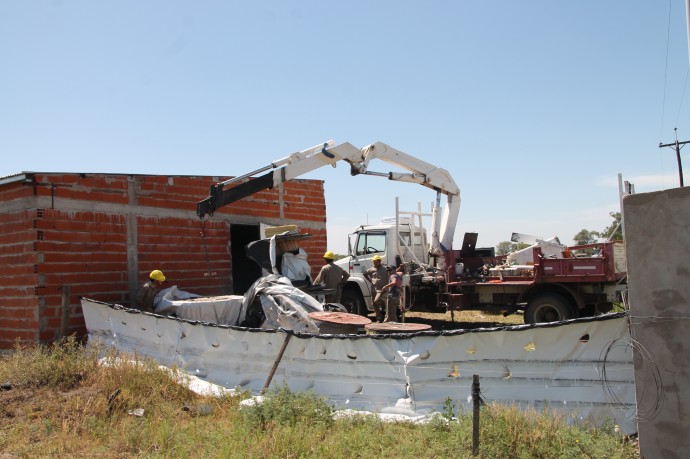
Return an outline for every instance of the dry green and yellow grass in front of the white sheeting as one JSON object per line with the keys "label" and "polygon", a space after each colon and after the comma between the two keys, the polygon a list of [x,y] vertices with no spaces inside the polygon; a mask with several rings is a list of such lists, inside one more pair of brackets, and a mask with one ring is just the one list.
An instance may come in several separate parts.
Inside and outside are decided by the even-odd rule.
{"label": "dry green and yellow grass in front of the white sheeting", "polygon": [[[236,397],[201,397],[155,362],[126,363],[114,351],[67,340],[20,347],[0,358],[0,451],[7,457],[472,457],[471,414],[448,399],[431,422],[383,422],[373,415],[333,417],[312,393],[286,387],[240,408]],[[132,356],[129,356],[132,357]],[[141,417],[128,414],[143,408]],[[633,441],[611,426],[569,425],[546,413],[487,405],[480,457],[638,458]],[[0,457],[5,457],[1,456]]]}

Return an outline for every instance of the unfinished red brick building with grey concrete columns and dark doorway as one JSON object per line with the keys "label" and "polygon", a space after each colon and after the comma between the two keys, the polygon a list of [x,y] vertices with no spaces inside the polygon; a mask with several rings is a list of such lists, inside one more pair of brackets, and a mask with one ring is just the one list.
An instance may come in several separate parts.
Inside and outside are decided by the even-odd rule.
{"label": "unfinished red brick building with grey concrete columns and dark doorway", "polygon": [[[220,177],[25,172],[0,178],[0,350],[86,333],[79,299],[129,305],[161,269],[168,285],[242,294],[261,275],[244,246],[260,225],[297,225],[315,276],[326,250],[323,182],[292,180],[196,216]],[[202,234],[204,237],[202,237]]]}

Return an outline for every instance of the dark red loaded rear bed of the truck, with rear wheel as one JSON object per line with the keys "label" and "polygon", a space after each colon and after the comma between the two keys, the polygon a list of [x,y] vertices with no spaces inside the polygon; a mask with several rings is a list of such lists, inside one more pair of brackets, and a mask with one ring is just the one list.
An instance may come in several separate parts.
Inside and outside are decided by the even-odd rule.
{"label": "dark red loaded rear bed of the truck, with rear wheel", "polygon": [[451,255],[456,269],[445,294],[451,309],[523,310],[525,323],[555,322],[609,312],[627,288],[622,241],[570,247],[539,241],[511,260],[516,254],[475,249],[476,239],[467,233]]}

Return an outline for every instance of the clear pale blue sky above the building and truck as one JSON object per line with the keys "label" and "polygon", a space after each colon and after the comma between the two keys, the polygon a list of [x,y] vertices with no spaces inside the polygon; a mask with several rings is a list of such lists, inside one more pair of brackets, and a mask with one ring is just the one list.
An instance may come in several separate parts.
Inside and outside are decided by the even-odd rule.
{"label": "clear pale blue sky above the building and truck", "polygon": [[[0,1],[0,176],[241,175],[381,141],[450,171],[456,248],[571,243],[611,222],[619,173],[678,186],[658,145],[690,140],[685,21],[682,0]],[[435,198],[346,166],[305,176],[335,252]]]}

